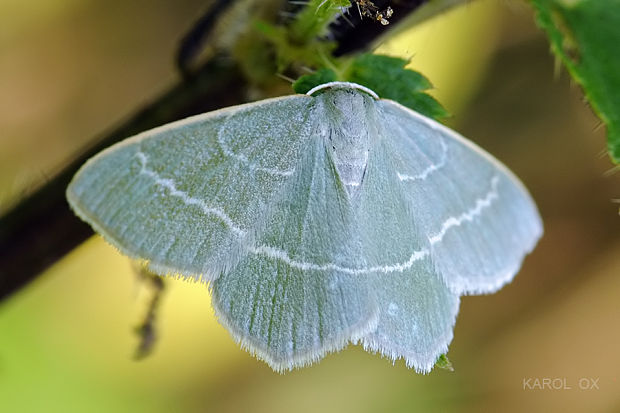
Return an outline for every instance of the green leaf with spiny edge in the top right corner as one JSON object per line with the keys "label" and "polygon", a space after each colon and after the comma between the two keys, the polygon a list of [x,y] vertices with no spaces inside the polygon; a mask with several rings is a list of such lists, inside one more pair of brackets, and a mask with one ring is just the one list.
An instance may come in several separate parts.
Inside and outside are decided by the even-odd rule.
{"label": "green leaf with spiny edge in the top right corner", "polygon": [[553,51],[607,127],[620,162],[620,0],[532,0]]}

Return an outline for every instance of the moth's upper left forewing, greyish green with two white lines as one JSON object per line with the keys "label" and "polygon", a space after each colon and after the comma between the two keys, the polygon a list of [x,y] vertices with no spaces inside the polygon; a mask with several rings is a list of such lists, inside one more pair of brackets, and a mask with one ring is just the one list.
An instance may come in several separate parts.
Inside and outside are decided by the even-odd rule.
{"label": "moth's upper left forewing, greyish green with two white lines", "polygon": [[90,159],[71,207],[122,253],[159,274],[208,281],[294,173],[312,99],[288,96],[174,122]]}

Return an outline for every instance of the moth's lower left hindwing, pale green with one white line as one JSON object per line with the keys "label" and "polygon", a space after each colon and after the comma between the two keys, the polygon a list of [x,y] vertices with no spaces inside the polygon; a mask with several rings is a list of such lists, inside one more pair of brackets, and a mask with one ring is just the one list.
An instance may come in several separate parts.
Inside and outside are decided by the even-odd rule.
{"label": "moth's lower left hindwing, pale green with one white line", "polygon": [[220,322],[276,371],[317,361],[376,325],[367,278],[356,271],[359,234],[325,139],[312,137],[303,153],[248,255],[211,284]]}

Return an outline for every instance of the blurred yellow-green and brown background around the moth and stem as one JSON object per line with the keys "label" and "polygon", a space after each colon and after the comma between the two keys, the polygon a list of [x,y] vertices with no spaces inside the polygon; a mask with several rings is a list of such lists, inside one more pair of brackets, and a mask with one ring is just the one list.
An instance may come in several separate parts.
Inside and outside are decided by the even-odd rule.
{"label": "blurred yellow-green and brown background around the moth and stem", "polygon": [[[207,3],[2,0],[0,209],[175,82],[177,40]],[[279,375],[217,324],[204,286],[173,280],[155,352],[136,362],[150,291],[93,237],[0,303],[0,411],[620,411],[620,176],[528,5],[467,3],[380,51],[411,57],[545,222],[512,284],[463,298],[454,372],[349,346]],[[545,378],[571,388],[524,386]]]}

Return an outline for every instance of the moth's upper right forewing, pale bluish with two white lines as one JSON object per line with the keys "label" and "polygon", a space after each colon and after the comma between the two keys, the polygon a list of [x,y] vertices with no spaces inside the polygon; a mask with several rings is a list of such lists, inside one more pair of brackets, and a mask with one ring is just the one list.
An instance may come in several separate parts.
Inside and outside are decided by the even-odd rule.
{"label": "moth's upper right forewing, pale bluish with two white lines", "polygon": [[379,105],[400,187],[436,270],[459,295],[497,291],[542,235],[527,190],[452,130],[395,102]]}

